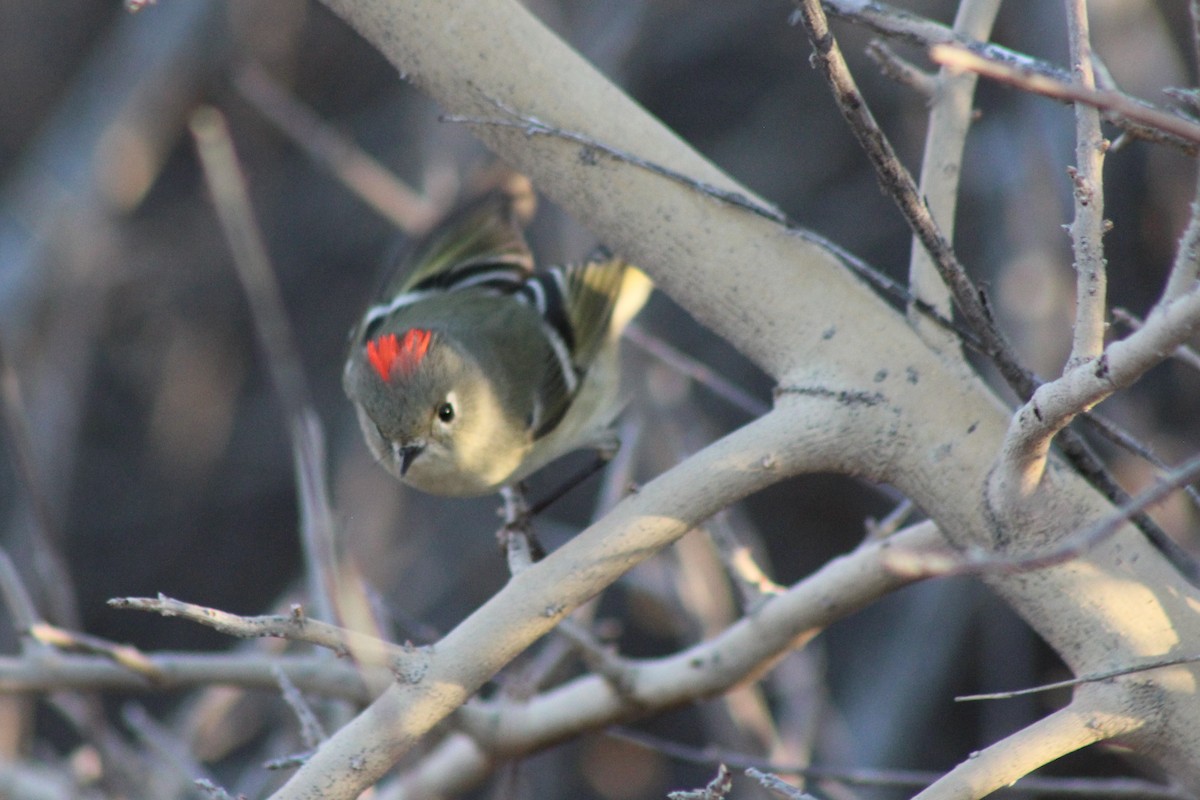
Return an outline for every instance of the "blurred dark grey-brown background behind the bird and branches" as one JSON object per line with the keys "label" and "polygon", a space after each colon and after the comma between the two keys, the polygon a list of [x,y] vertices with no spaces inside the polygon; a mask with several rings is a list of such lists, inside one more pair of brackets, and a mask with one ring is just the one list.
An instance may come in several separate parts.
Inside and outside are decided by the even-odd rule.
{"label": "blurred dark grey-brown background behind the bird and branches", "polygon": [[[911,0],[904,7],[949,23],[955,5]],[[800,224],[905,279],[907,229],[810,68],[804,32],[788,24],[790,4],[529,6],[734,178]],[[1096,0],[1090,11],[1096,50],[1126,91],[1169,103],[1164,88],[1193,85],[1183,0]],[[924,100],[864,58],[866,32],[845,25],[835,32],[872,109],[916,170]],[[1067,62],[1061,4],[1006,4],[994,40]],[[919,53],[898,49],[926,64]],[[112,1],[0,0],[7,417],[0,434],[0,546],[48,620],[148,651],[236,643],[179,620],[113,610],[106,600],[164,593],[254,614],[286,608],[286,599],[298,596],[302,564],[287,425],[187,133],[187,118],[202,103],[228,116],[245,168],[324,425],[342,547],[396,639],[430,640],[505,582],[493,536],[498,501],[416,495],[376,467],[360,440],[340,383],[347,333],[380,269],[412,236],[306,145],[326,136],[354,143],[413,188],[426,219],[469,194],[493,162],[316,2],[163,0],[130,14]],[[1070,243],[1061,228],[1072,216],[1064,170],[1073,162],[1073,113],[988,83],[977,106],[959,254],[1026,363],[1054,375],[1069,349],[1074,293]],[[325,127],[313,132],[314,122]],[[1177,150],[1130,142],[1109,156],[1105,173],[1106,216],[1115,225],[1105,240],[1111,302],[1141,315],[1160,291],[1186,223],[1194,167]],[[550,203],[541,205],[530,239],[545,263],[581,258],[598,243]],[[1114,327],[1117,335],[1124,330]],[[746,397],[731,403],[690,380],[655,355],[664,343],[708,365]],[[538,521],[551,548],[630,482],[670,468],[769,402],[764,375],[667,297],[656,295],[643,312],[628,350],[623,456],[608,476],[593,479]],[[1200,445],[1198,391],[1196,372],[1172,362],[1102,411],[1175,463]],[[1104,452],[1127,489],[1152,480],[1144,463]],[[552,487],[552,479],[534,480],[532,494]],[[787,584],[852,549],[866,521],[886,516],[899,499],[888,487],[806,476],[746,500],[712,533],[750,543],[770,577]],[[1196,551],[1194,509],[1171,501],[1154,516]],[[712,541],[689,535],[601,599],[594,613],[623,652],[672,652],[739,614],[740,597]],[[17,648],[6,610],[0,651]],[[494,691],[520,684],[534,657],[514,664]],[[942,581],[839,622],[756,690],[637,728],[781,763],[944,771],[1066,697],[955,704],[955,694],[1064,676],[1054,655],[986,591],[966,579]],[[253,712],[224,722],[236,734],[203,739],[188,727],[194,720],[187,709],[198,696],[103,700],[110,732],[134,750],[128,715],[120,714],[130,704],[169,726],[230,790],[268,792],[281,777],[264,774],[262,762],[302,748],[287,709],[256,696],[246,706]],[[142,794],[97,778],[82,765],[92,742],[67,717],[59,706],[22,705],[8,717],[16,723],[0,762],[47,766],[80,781],[79,792],[91,796],[190,796],[180,782],[169,793]],[[661,798],[703,784],[714,770],[594,734],[505,768],[472,796]],[[1102,750],[1064,759],[1048,774],[1147,775]],[[733,796],[766,796],[744,778],[736,786]],[[850,796],[835,784],[814,790]],[[886,798],[913,789],[854,792]]]}

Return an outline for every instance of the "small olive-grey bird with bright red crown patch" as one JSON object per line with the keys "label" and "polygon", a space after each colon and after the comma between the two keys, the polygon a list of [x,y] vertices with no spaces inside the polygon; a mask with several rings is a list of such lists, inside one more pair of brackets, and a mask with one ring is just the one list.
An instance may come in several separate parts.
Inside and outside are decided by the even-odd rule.
{"label": "small olive-grey bird with bright red crown patch", "polygon": [[504,491],[618,445],[618,339],[652,283],[607,257],[535,272],[524,187],[432,230],[352,333],[343,386],[367,446],[422,492]]}

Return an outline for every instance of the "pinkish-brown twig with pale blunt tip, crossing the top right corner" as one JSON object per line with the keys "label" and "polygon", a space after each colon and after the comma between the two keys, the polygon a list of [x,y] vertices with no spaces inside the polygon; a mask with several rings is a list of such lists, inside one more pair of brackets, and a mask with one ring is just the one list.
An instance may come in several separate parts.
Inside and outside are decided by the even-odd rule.
{"label": "pinkish-brown twig with pale blunt tip, crossing the top right corner", "polygon": [[1156,131],[1169,133],[1188,142],[1193,148],[1200,145],[1200,125],[1120,91],[1092,89],[1060,80],[1022,66],[990,60],[955,44],[935,44],[929,50],[929,58],[952,70],[968,70],[984,78],[1007,83],[1034,95],[1072,103],[1086,103]]}

